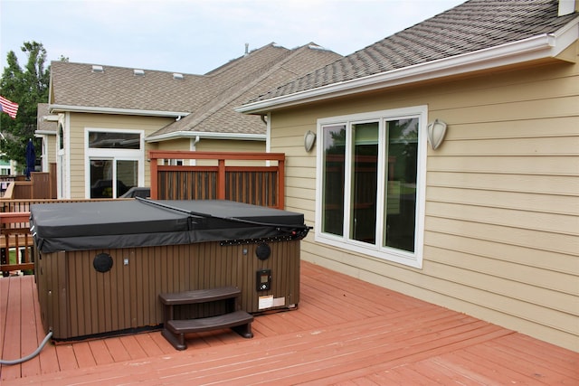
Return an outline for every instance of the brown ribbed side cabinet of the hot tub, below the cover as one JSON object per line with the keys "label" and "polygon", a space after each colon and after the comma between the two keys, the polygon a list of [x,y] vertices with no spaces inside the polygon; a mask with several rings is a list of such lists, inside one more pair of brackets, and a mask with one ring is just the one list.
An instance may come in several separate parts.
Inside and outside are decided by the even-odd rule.
{"label": "brown ribbed side cabinet of the hot tub, below the cover", "polygon": [[[251,314],[295,308],[300,239],[273,235],[123,248],[36,248],[43,327],[52,330],[52,339],[69,340],[157,326],[164,317],[159,294],[215,287],[239,287],[239,306]],[[106,258],[104,269],[97,268],[97,257]],[[269,273],[271,287],[260,287],[260,272]],[[220,307],[185,308],[182,318],[218,315]]]}

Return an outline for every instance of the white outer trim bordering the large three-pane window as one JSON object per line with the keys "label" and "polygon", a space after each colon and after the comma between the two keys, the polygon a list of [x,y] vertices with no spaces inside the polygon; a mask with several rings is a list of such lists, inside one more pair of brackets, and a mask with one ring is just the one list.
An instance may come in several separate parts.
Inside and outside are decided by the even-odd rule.
{"label": "white outer trim bordering the large three-pane window", "polygon": [[[364,121],[378,121],[380,122],[379,143],[384,145],[384,121],[397,118],[419,118],[418,130],[418,159],[417,159],[417,175],[416,175],[416,224],[414,235],[414,252],[408,252],[400,249],[380,248],[378,246],[369,245],[361,241],[348,240],[346,234],[344,236],[337,236],[329,233],[323,233],[322,226],[322,192],[323,192],[323,133],[322,127],[327,125],[346,124],[349,127],[351,123],[360,123]],[[339,249],[351,250],[367,256],[372,256],[378,259],[385,259],[393,261],[413,268],[422,268],[422,253],[424,244],[424,207],[426,200],[426,156],[427,156],[427,122],[428,122],[428,106],[414,106],[409,108],[394,108],[381,111],[372,111],[359,114],[352,114],[346,116],[320,118],[318,119],[318,138],[322,141],[318,147],[317,167],[316,167],[316,223],[314,226],[316,242],[327,244]],[[350,138],[351,139],[351,138]],[[346,142],[346,165],[351,165],[351,156],[349,151],[351,140]],[[384,152],[381,152],[381,158],[378,165],[378,178],[384,179]],[[383,181],[379,181],[383,182]],[[349,186],[346,181],[346,186]],[[345,189],[345,202],[349,202],[350,189]],[[378,192],[377,204],[380,208],[384,205],[384,192]],[[346,211],[344,221],[349,223],[349,213]],[[378,211],[377,211],[378,212]],[[347,221],[347,222],[346,222]],[[376,232],[382,232],[383,224],[381,221],[376,221]]]}

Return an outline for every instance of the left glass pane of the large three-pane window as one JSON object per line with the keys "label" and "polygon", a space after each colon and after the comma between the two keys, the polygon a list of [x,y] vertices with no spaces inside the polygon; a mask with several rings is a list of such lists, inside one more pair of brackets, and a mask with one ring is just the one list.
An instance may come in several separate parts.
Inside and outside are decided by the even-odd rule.
{"label": "left glass pane of the large three-pane window", "polygon": [[344,173],[346,126],[322,128],[324,141],[324,183],[322,191],[322,231],[344,234]]}

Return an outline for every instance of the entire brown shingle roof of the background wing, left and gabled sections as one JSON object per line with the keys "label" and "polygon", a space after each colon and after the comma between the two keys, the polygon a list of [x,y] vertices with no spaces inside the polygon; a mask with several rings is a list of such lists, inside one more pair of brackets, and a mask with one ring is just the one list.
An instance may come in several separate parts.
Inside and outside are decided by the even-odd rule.
{"label": "entire brown shingle roof of the background wing, left and gabled sections", "polygon": [[260,118],[233,110],[242,102],[342,56],[314,43],[289,50],[271,43],[204,75],[52,61],[51,105],[190,113],[153,136],[173,132],[265,134]]}

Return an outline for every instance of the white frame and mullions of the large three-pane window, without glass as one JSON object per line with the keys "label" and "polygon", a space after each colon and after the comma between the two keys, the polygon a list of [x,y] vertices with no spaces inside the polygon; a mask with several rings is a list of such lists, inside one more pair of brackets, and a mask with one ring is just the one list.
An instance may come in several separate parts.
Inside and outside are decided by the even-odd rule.
{"label": "white frame and mullions of the large three-pane window, without glass", "polygon": [[[403,249],[394,249],[391,247],[382,247],[381,236],[375,240],[375,244],[368,244],[363,241],[357,241],[350,238],[349,231],[347,231],[351,223],[351,188],[352,188],[352,146],[353,146],[353,124],[379,122],[378,132],[378,190],[376,196],[376,213],[382,213],[376,216],[376,235],[384,235],[384,199],[387,190],[387,182],[384,181],[384,168],[387,166],[385,162],[385,141],[386,133],[384,130],[385,122],[395,119],[418,118],[418,145],[417,145],[417,171],[416,171],[416,209],[415,209],[415,225],[414,225],[414,251],[406,251]],[[350,114],[337,117],[319,118],[317,121],[317,164],[316,164],[316,222],[314,226],[316,242],[327,244],[339,249],[345,249],[356,253],[372,256],[378,259],[393,261],[413,268],[422,268],[422,252],[424,240],[424,207],[425,207],[425,191],[426,191],[426,156],[427,156],[427,122],[428,122],[428,107],[425,105],[414,106],[408,108],[393,108],[379,111],[371,111],[357,114]],[[344,189],[344,231],[342,236],[325,233],[322,231],[322,215],[323,202],[322,197],[324,189],[324,135],[323,127],[326,126],[346,126],[346,157],[345,157],[345,189]],[[347,188],[346,188],[347,187]]]}

